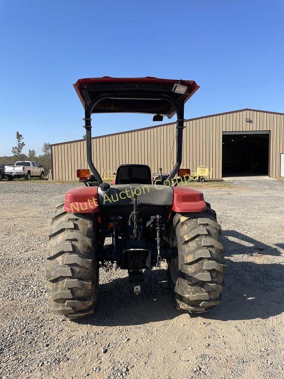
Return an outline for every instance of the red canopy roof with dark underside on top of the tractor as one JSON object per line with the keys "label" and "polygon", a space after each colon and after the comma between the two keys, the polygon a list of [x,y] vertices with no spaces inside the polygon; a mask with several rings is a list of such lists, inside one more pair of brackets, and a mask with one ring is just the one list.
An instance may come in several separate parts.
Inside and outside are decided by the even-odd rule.
{"label": "red canopy roof with dark underside on top of the tractor", "polygon": [[[175,84],[186,86],[186,92],[174,92]],[[79,79],[74,88],[83,106],[85,102],[89,105],[98,99],[92,113],[148,113],[171,118],[176,110],[165,98],[160,99],[159,96],[167,96],[182,105],[199,86],[193,80],[104,76]]]}

